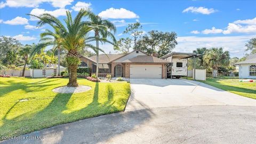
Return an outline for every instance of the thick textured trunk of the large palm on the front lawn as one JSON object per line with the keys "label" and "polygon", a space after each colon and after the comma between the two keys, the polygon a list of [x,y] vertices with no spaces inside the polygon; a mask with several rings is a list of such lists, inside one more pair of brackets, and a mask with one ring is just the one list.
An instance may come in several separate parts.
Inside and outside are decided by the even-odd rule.
{"label": "thick textured trunk of the large palm on the front lawn", "polygon": [[[79,59],[77,51],[72,51],[72,50],[68,52],[67,58],[68,57],[73,57],[73,58]],[[78,83],[77,83],[77,64],[68,62],[68,75],[69,75],[69,81],[68,81],[67,86],[77,87],[78,86]]]}

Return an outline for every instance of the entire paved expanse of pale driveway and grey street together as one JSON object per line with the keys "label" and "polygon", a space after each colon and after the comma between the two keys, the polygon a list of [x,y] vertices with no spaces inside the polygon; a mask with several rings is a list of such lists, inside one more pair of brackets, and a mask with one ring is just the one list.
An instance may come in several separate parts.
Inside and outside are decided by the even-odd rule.
{"label": "entire paved expanse of pale driveway and grey street together", "polygon": [[[123,113],[2,143],[255,143],[256,100],[183,79],[131,79]],[[0,142],[1,143],[1,142]]]}

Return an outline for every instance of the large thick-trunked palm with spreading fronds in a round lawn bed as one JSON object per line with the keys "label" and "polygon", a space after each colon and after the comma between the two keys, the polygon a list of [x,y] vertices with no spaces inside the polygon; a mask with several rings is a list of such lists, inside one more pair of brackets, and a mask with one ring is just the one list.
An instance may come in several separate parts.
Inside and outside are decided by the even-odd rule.
{"label": "large thick-trunked palm with spreading fronds in a round lawn bed", "polygon": [[[78,58],[78,51],[84,49],[84,47],[91,47],[93,50],[96,50],[97,48],[90,44],[90,42],[105,40],[88,36],[88,33],[92,28],[88,26],[88,22],[83,22],[82,18],[87,17],[89,13],[89,11],[81,9],[75,19],[73,19],[71,17],[71,13],[67,11],[67,18],[65,19],[66,26],[64,26],[59,19],[49,13],[44,13],[39,16],[33,15],[39,19],[37,22],[38,27],[48,24],[54,29],[54,32],[51,32],[56,33],[59,37],[58,39],[55,37],[46,37],[48,35],[46,34],[44,38],[41,39],[42,41],[37,45],[37,49],[35,49],[34,52],[45,46],[55,46],[57,45],[57,41],[63,49],[68,51],[66,61],[68,63],[69,82],[67,86],[78,86],[77,66],[80,62]],[[50,32],[50,30],[47,31]],[[52,35],[49,34],[48,36]]]}

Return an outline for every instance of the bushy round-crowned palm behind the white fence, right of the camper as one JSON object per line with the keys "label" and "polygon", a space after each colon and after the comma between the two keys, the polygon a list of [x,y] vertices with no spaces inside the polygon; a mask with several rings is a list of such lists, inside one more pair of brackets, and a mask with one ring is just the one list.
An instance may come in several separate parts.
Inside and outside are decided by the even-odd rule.
{"label": "bushy round-crowned palm behind the white fence, right of the camper", "polygon": [[218,76],[218,68],[225,67],[229,65],[229,52],[223,51],[220,48],[212,48],[205,52],[204,54],[204,63],[206,66],[209,66],[212,69],[212,76]]}

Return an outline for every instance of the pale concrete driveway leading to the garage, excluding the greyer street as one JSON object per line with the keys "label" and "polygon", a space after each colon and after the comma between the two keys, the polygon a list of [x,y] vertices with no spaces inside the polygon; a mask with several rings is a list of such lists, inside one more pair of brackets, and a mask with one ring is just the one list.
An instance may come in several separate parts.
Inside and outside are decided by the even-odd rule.
{"label": "pale concrete driveway leading to the garage, excluding the greyer street", "polygon": [[256,100],[187,79],[130,79],[132,94],[125,110],[234,105],[256,106]]}

